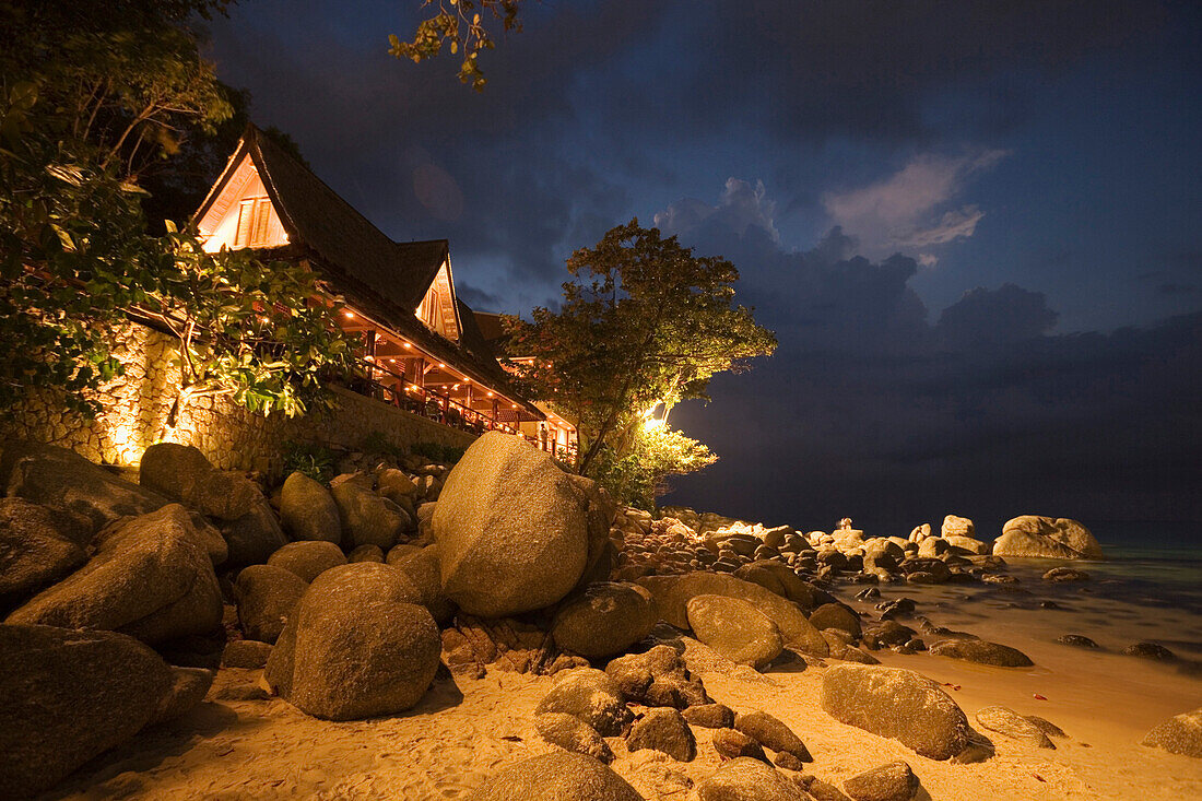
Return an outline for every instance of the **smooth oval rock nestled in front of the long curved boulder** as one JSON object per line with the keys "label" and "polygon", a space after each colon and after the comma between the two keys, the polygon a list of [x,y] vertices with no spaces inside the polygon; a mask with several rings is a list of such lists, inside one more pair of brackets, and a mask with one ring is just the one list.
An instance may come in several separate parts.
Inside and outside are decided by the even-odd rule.
{"label": "smooth oval rock nestled in front of the long curved boulder", "polygon": [[689,627],[698,640],[731,661],[762,669],[780,655],[780,629],[748,601],[725,595],[695,595]]}

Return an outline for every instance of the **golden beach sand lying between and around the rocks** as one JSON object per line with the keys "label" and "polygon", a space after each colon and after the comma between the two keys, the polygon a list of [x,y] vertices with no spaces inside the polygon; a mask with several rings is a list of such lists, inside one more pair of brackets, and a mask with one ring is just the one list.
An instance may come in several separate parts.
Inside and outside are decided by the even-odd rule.
{"label": "golden beach sand lying between and around the rocks", "polygon": [[[1180,663],[1118,653],[1137,640],[1159,640],[1174,647],[1188,668],[1202,657],[1202,619],[1173,607],[1100,598],[1096,591],[1105,587],[1037,583],[1037,569],[1030,568],[1034,583],[1024,575],[1020,585],[1030,594],[976,585],[886,586],[873,603],[851,600],[858,587],[839,594],[865,611],[879,600],[914,598],[917,613],[939,625],[1028,653],[1036,663],[1029,669],[924,653],[875,655],[946,682],[970,722],[976,710],[995,704],[1049,719],[1070,736],[1057,740],[1055,750],[984,732],[996,747],[990,759],[933,761],[827,716],[820,705],[821,666],[797,664],[760,675],[685,637],[686,661],[715,700],[736,711],[764,710],[792,726],[814,755],[807,772],[835,785],[902,759],[922,781],[920,799],[1202,799],[1202,760],[1137,744],[1165,718],[1202,706],[1202,680]],[[1040,609],[1046,599],[1064,609]],[[1106,649],[1054,642],[1070,631]],[[263,696],[258,674],[221,670],[206,704],[97,758],[43,797],[465,799],[501,766],[549,748],[534,729],[534,708],[553,681],[548,677],[496,670],[481,680],[445,676],[407,714],[331,723]],[[236,700],[248,695],[262,698]],[[688,799],[689,781],[719,764],[709,730],[695,732],[692,763],[647,750],[629,754],[621,738],[609,738],[613,767],[647,799]]]}

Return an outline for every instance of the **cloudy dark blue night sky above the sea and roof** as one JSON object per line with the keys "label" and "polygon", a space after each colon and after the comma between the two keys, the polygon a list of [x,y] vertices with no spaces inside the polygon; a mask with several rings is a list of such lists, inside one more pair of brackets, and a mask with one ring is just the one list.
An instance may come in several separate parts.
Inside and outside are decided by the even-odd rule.
{"label": "cloudy dark blue night sky above the sea and roof", "polygon": [[418,5],[244,0],[209,57],[477,309],[631,216],[731,259],[780,348],[674,410],[720,461],[666,502],[1202,520],[1200,4],[548,0],[482,95],[387,55]]}

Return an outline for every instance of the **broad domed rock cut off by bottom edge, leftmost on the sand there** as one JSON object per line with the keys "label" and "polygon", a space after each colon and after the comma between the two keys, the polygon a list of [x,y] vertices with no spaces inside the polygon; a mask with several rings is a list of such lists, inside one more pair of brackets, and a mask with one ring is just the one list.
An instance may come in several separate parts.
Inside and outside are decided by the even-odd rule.
{"label": "broad domed rock cut off by bottom edge, leftmost on the sand there", "polygon": [[474,801],[643,801],[624,778],[591,756],[553,750],[492,776]]}

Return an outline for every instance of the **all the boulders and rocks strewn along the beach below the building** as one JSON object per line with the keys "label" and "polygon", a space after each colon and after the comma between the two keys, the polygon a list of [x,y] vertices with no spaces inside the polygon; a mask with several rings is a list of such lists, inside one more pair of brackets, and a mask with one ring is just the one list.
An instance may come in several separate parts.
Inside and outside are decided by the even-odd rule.
{"label": "all the boulders and rocks strewn along the beach below the building", "polygon": [[[865,539],[850,523],[802,534],[683,509],[653,520],[615,509],[594,482],[500,433],[481,437],[453,469],[421,457],[357,467],[368,469],[328,486],[293,473],[264,494],[175,444],[145,451],[137,483],[63,449],[6,444],[0,788],[50,787],[186,712],[219,666],[261,669],[266,687],[298,710],[347,720],[413,707],[445,665],[460,677],[561,675],[536,724],[571,753],[514,766],[481,797],[637,797],[606,767],[619,742],[607,738],[688,761],[692,726],[703,726],[730,761],[698,784],[700,797],[742,797],[732,793],[755,784],[776,790],[754,797],[837,799],[845,796],[799,772],[809,753],[796,734],[766,713],[713,702],[679,651],[653,636],[656,625],[690,633],[744,670],[843,660],[823,675],[827,712],[935,759],[974,750],[965,716],[921,676],[875,666],[871,651],[1030,664],[929,622],[920,636],[897,619],[914,611],[904,599],[865,619],[831,592],[838,577],[995,575],[996,544],[990,552],[965,518],[908,539]],[[1071,521],[1018,520],[1036,522],[1016,533],[1063,535],[1065,547],[1093,553]],[[1049,581],[1067,580],[1057,576]],[[1184,717],[1149,737],[1189,742],[1197,716]],[[1040,724],[1014,718],[990,711],[977,720],[1037,740],[1028,726]],[[557,773],[569,765],[570,776]],[[514,789],[520,777],[534,784]],[[554,788],[563,794],[547,796]],[[857,800],[909,799],[916,788],[904,764],[844,787]]]}

